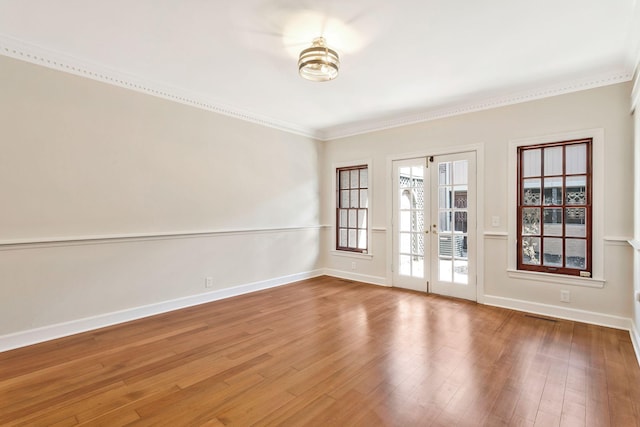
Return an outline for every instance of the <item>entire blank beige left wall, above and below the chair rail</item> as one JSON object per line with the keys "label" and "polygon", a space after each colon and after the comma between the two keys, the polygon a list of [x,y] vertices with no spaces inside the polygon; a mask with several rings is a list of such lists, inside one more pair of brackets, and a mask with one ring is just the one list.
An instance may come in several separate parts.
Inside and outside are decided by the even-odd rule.
{"label": "entire blank beige left wall, above and below the chair rail", "polygon": [[0,336],[319,268],[317,141],[0,56],[0,148]]}

